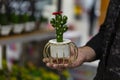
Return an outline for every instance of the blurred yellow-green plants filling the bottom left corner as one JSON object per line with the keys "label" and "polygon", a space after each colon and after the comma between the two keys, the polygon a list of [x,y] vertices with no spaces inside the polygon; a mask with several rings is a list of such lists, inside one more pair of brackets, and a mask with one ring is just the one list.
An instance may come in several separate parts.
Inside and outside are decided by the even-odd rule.
{"label": "blurred yellow-green plants filling the bottom left corner", "polygon": [[0,80],[60,80],[60,77],[43,67],[36,67],[32,63],[28,63],[27,66],[13,64],[7,74],[5,68],[0,70]]}

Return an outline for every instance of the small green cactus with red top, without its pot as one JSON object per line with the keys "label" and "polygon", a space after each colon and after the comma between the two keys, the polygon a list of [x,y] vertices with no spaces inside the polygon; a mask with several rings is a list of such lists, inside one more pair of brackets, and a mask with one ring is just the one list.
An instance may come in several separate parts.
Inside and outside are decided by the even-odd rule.
{"label": "small green cactus with red top, without its pot", "polygon": [[63,42],[63,33],[67,31],[68,27],[66,24],[67,16],[62,16],[62,12],[54,12],[55,18],[52,18],[50,23],[56,30],[56,39],[57,42]]}

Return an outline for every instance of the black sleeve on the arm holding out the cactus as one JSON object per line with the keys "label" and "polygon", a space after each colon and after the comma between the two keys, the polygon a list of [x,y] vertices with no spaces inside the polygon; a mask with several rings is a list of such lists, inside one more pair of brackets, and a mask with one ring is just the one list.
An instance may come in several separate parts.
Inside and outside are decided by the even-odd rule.
{"label": "black sleeve on the arm holding out the cactus", "polygon": [[104,38],[105,38],[105,31],[107,28],[106,23],[109,22],[109,17],[111,16],[111,6],[113,5],[112,1],[109,1],[107,10],[106,10],[106,18],[104,20],[104,23],[101,25],[100,30],[97,35],[95,35],[91,40],[89,40],[86,44],[86,46],[90,47],[95,52],[95,58],[94,59],[100,59],[103,54],[103,47],[104,47]]}

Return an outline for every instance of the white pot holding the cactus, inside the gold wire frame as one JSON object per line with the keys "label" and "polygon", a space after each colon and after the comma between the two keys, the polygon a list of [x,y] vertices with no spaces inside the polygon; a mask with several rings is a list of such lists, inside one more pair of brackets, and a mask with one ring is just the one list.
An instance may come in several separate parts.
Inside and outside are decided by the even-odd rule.
{"label": "white pot holding the cactus, inside the gold wire frame", "polygon": [[70,46],[71,40],[64,39],[63,42],[57,42],[56,39],[49,41],[50,53],[53,58],[68,58],[70,56]]}

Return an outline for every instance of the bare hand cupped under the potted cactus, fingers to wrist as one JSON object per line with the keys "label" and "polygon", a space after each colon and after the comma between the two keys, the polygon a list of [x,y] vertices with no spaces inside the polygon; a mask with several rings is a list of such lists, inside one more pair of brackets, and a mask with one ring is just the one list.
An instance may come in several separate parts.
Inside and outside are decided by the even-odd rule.
{"label": "bare hand cupped under the potted cactus, fingers to wrist", "polygon": [[72,63],[65,63],[65,64],[55,64],[55,63],[50,63],[50,59],[44,58],[43,62],[46,63],[46,66],[52,68],[52,69],[57,69],[59,71],[64,70],[66,68],[75,68],[80,66],[86,59],[86,54],[82,53],[81,48],[78,49],[78,57],[77,59]]}

